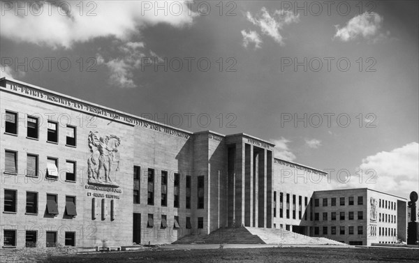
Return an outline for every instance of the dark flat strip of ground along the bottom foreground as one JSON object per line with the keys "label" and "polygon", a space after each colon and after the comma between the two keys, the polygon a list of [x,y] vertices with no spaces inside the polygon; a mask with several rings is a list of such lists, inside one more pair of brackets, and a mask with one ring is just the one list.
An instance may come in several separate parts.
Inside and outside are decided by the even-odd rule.
{"label": "dark flat strip of ground along the bottom foreground", "polygon": [[56,255],[38,262],[419,262],[418,249],[224,248]]}

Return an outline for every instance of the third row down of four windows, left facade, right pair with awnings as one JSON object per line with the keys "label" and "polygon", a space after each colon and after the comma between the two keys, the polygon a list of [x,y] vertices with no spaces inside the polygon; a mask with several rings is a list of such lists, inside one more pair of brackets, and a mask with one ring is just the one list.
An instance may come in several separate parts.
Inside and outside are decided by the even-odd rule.
{"label": "third row down of four windows, left facade, right pair with awnings", "polygon": [[[46,196],[47,206],[46,213],[57,216],[58,212],[58,195],[47,193]],[[64,215],[66,216],[77,216],[75,196],[66,195],[66,208],[64,209]],[[27,214],[38,214],[38,193],[26,192],[26,213]],[[4,189],[4,212],[6,213],[17,213],[17,190]]]}

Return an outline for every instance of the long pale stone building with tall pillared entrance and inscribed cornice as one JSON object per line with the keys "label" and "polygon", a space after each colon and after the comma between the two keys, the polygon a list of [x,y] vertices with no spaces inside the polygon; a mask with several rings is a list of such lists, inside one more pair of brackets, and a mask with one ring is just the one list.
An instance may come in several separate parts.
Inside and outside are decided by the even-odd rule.
{"label": "long pale stone building with tall pillared entrance and inscribed cornice", "polygon": [[1,248],[172,243],[239,226],[406,239],[404,198],[331,190],[326,172],[275,158],[266,140],[191,133],[6,78],[0,98]]}

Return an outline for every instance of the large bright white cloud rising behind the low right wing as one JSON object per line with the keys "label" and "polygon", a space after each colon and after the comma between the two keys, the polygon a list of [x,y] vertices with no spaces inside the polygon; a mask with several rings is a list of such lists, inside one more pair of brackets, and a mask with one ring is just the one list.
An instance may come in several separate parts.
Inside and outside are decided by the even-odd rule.
{"label": "large bright white cloud rising behind the low right wing", "polygon": [[362,178],[351,179],[349,187],[408,195],[419,187],[419,144],[411,142],[392,151],[367,156],[362,159],[359,169],[362,170]]}

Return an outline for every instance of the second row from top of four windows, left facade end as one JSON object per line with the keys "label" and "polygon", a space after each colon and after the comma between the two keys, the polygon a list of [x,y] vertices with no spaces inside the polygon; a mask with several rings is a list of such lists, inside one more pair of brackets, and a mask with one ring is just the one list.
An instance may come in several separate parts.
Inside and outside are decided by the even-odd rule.
{"label": "second row from top of four windows, left facade end", "polygon": [[[18,173],[18,153],[13,150],[4,151],[4,172],[10,174]],[[66,181],[75,181],[76,162],[74,160],[66,160]],[[45,177],[47,179],[58,179],[58,158],[47,157],[47,167],[45,169]],[[39,156],[34,153],[27,153],[27,167],[25,173],[27,176],[38,177]]]}

